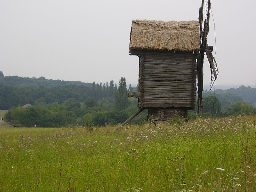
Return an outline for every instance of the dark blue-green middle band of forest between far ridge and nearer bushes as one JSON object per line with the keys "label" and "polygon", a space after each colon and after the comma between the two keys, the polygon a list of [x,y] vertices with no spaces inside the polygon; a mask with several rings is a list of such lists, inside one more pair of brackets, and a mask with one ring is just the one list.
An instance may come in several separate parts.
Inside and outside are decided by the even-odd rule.
{"label": "dark blue-green middle band of forest between far ridge and nearer bushes", "polygon": [[0,109],[7,110],[17,105],[25,104],[50,104],[57,102],[63,103],[69,98],[76,101],[85,101],[88,97],[94,97],[96,100],[106,98],[111,102],[115,100],[117,86],[113,81],[105,84],[92,83],[92,87],[86,85],[60,85],[56,87],[44,87],[40,85],[37,88],[15,87],[12,85],[0,84]]}

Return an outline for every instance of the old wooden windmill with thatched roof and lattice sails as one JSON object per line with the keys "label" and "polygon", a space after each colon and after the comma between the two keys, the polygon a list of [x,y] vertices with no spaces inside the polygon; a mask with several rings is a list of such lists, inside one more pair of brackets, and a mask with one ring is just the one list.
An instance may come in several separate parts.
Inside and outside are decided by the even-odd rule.
{"label": "old wooden windmill with thatched roof and lattice sails", "polygon": [[177,112],[186,118],[188,110],[196,108],[196,75],[202,115],[204,52],[210,63],[211,86],[218,75],[213,47],[206,41],[211,0],[206,5],[204,28],[204,0],[199,21],[132,21],[130,55],[139,57],[139,90],[129,93],[129,97],[138,98],[139,111],[123,124],[144,109],[148,109],[148,120],[155,122],[167,121]]}

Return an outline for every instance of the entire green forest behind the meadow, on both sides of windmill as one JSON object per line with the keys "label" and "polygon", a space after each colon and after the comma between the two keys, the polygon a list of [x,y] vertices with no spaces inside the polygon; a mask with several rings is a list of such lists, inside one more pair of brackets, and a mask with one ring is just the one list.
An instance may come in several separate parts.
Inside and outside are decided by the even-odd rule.
{"label": "entire green forest behind the meadow, on both sides of windmill", "polygon": [[[0,76],[0,109],[8,110],[5,121],[20,126],[63,127],[69,125],[104,126],[124,122],[137,111],[138,100],[128,98],[137,91],[125,78],[119,84],[82,83]],[[236,116],[256,113],[256,89],[240,86],[227,90],[204,92],[204,117]],[[31,107],[22,108],[26,104]],[[197,117],[189,111],[188,118]],[[146,121],[147,110],[132,120]]]}

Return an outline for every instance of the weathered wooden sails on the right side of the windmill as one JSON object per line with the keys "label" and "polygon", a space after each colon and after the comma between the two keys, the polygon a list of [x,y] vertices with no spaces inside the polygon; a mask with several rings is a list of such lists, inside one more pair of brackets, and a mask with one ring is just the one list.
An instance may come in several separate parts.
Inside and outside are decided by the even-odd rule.
{"label": "weathered wooden sails on the right side of the windmill", "polygon": [[211,88],[218,76],[218,68],[217,62],[212,55],[213,46],[209,46],[207,44],[207,35],[209,32],[209,23],[210,23],[210,11],[211,11],[211,0],[206,0],[205,6],[205,20],[204,20],[204,28],[203,28],[203,10],[204,10],[204,0],[202,0],[202,6],[199,8],[199,24],[200,24],[200,51],[197,57],[197,88],[198,88],[198,111],[199,116],[202,116],[203,113],[203,100],[204,100],[204,86],[203,86],[203,65],[204,65],[204,52],[208,58],[208,62],[210,64],[211,69]]}

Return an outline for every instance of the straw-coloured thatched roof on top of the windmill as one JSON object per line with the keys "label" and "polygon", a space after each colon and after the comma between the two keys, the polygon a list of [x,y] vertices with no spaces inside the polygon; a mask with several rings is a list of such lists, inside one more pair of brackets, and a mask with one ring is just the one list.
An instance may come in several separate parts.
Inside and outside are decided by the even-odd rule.
{"label": "straw-coloured thatched roof on top of the windmill", "polygon": [[198,51],[200,26],[197,21],[133,20],[130,34],[132,50]]}

